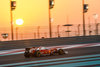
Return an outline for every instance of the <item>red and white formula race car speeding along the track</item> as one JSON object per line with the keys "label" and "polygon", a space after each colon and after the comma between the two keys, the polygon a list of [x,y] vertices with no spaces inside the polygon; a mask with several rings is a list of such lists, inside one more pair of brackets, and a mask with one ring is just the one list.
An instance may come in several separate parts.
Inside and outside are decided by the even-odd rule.
{"label": "red and white formula race car speeding along the track", "polygon": [[63,55],[65,54],[65,52],[63,49],[60,49],[60,48],[46,48],[46,47],[26,48],[24,52],[24,56],[26,58],[55,55],[55,54]]}

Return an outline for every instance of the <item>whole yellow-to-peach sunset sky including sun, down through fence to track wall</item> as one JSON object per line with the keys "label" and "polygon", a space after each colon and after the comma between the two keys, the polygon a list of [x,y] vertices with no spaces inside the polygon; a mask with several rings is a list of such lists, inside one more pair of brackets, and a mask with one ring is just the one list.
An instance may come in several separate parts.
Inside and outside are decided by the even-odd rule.
{"label": "whole yellow-to-peach sunset sky including sun, down through fence to track wall", "polygon": [[[19,36],[23,33],[23,36],[21,36],[23,39],[33,37],[33,33],[33,38],[37,38],[37,26],[40,26],[40,36],[49,37],[49,0],[12,1],[16,1],[14,5],[16,8],[12,10],[13,25],[11,25],[10,0],[0,0],[1,33],[7,32],[11,35],[11,26],[13,26],[14,35],[16,33],[15,28],[19,27]],[[52,3],[54,7],[50,9],[50,18],[53,18],[51,20],[51,32],[53,37],[57,37],[57,30],[60,31],[62,37],[67,36],[65,31],[67,31],[68,28],[63,25],[68,23],[73,25],[69,27],[71,31],[70,35],[76,36],[78,34],[78,27],[80,27],[80,35],[83,35],[82,1],[83,0],[54,0]],[[100,23],[100,0],[84,0],[84,4],[88,4],[88,11],[85,13],[86,34],[89,35],[90,29],[93,30],[92,32],[90,30],[90,33],[95,34],[94,30],[96,27],[94,23]],[[88,24],[90,24],[90,26],[88,26]],[[57,25],[60,26],[57,28]]]}

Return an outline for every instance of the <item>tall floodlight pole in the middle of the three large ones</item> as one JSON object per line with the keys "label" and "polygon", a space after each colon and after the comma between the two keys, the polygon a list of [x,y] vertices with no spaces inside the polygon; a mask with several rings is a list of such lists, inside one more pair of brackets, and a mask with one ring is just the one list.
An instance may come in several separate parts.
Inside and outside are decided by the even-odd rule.
{"label": "tall floodlight pole in the middle of the three large ones", "polygon": [[52,38],[52,28],[51,28],[51,13],[50,9],[54,7],[54,0],[48,0],[49,1],[49,36]]}

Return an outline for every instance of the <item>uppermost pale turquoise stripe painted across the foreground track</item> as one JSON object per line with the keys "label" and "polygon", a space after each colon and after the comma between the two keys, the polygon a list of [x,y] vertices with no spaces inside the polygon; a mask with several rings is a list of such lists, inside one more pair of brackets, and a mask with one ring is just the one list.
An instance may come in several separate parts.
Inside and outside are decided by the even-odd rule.
{"label": "uppermost pale turquoise stripe painted across the foreground track", "polygon": [[[20,63],[12,63],[12,64],[3,64],[3,65],[0,65],[0,67],[31,64],[31,63],[40,63],[40,62],[48,62],[48,61],[60,61],[60,60],[68,60],[68,59],[76,59],[76,58],[78,60],[78,58],[87,58],[87,57],[96,57],[96,56],[100,56],[100,54],[76,56],[76,57],[67,57],[67,58],[56,58],[56,59],[48,59],[48,60],[30,61],[30,62],[20,62]],[[95,59],[100,59],[100,58],[95,58]],[[73,60],[73,61],[75,61],[75,60]],[[72,62],[72,61],[70,61],[70,62]]]}

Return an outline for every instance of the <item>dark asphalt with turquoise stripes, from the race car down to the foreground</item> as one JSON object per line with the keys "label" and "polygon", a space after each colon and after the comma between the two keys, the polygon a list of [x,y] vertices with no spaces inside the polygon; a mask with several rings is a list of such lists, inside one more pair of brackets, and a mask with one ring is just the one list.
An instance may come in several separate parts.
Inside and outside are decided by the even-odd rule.
{"label": "dark asphalt with turquoise stripes, from the race car down to the foreground", "polygon": [[65,55],[25,58],[0,56],[0,67],[100,67],[100,46],[65,49]]}

